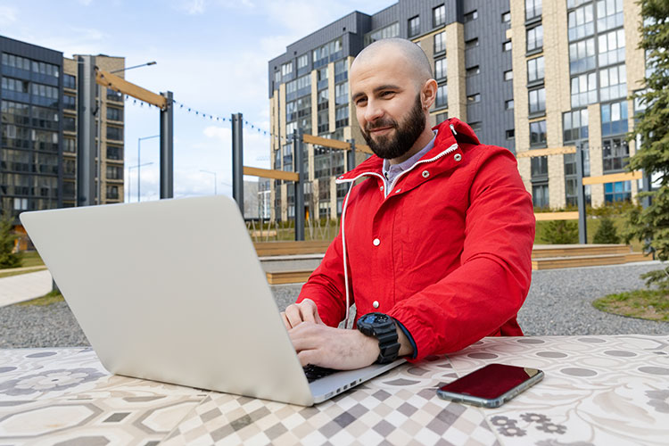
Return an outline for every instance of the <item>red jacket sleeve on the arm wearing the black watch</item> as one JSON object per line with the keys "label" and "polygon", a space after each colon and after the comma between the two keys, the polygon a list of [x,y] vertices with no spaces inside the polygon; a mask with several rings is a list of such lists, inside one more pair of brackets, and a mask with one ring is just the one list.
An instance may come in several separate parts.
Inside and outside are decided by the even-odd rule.
{"label": "red jacket sleeve on the arm wearing the black watch", "polygon": [[460,266],[389,313],[413,336],[414,361],[458,351],[495,334],[516,317],[530,287],[532,199],[512,153],[481,149],[470,183]]}

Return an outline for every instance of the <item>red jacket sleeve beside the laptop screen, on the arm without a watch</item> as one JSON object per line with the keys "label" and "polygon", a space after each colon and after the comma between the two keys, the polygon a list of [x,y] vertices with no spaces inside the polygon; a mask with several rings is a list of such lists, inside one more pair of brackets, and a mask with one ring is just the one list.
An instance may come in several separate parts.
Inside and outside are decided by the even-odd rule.
{"label": "red jacket sleeve beside the laptop screen, on the arm without a watch", "polygon": [[[349,289],[351,286],[351,269],[349,269]],[[350,293],[353,304],[353,293]],[[338,326],[346,316],[346,294],[344,293],[342,231],[327,248],[318,268],[302,286],[297,303],[304,299],[316,302],[318,316],[328,326]]]}

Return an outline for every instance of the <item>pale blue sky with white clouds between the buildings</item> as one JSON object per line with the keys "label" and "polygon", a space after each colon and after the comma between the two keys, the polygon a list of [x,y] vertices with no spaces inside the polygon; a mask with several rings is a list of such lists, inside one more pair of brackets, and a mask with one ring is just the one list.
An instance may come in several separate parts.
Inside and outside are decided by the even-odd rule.
{"label": "pale blue sky with white clouds between the buildings", "polygon": [[[0,0],[0,35],[72,54],[126,58],[126,79],[171,91],[175,197],[232,195],[229,121],[244,120],[244,165],[269,168],[268,61],[286,45],[352,11],[372,14],[395,0]],[[126,201],[137,200],[138,138],[160,133],[155,107],[125,103]],[[191,108],[187,112],[186,108]],[[200,113],[196,116],[194,111]],[[250,126],[253,125],[253,129]],[[159,139],[141,142],[142,201],[160,196]],[[208,170],[216,172],[202,172]],[[214,186],[214,178],[217,185]],[[245,179],[255,180],[247,177]],[[128,181],[129,180],[129,181]],[[128,185],[129,183],[129,185]]]}

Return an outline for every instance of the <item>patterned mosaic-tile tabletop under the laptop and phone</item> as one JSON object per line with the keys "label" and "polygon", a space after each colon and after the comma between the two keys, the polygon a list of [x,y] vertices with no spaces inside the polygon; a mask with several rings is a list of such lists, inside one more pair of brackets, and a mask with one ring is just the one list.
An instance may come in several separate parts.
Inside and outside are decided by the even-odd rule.
{"label": "patterned mosaic-tile tabletop under the laptop and phone", "polygon": [[[546,376],[499,409],[435,395],[491,362]],[[669,335],[485,338],[312,408],[111,376],[91,349],[0,351],[0,445],[384,441],[666,445]]]}

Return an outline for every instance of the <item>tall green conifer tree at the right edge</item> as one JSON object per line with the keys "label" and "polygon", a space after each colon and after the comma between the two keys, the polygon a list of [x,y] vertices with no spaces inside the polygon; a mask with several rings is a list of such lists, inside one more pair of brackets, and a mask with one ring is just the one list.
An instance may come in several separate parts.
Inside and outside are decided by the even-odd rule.
{"label": "tall green conifer tree at the right edge", "polygon": [[[640,0],[640,47],[646,52],[646,90],[634,98],[646,106],[637,116],[630,139],[640,135],[640,145],[630,159],[629,169],[643,169],[645,175],[659,178],[660,186],[652,192],[639,194],[649,199],[642,210],[628,213],[624,239],[644,241],[659,260],[669,260],[669,2]],[[667,268],[669,269],[669,268]],[[669,271],[645,275],[647,283],[669,286]]]}

